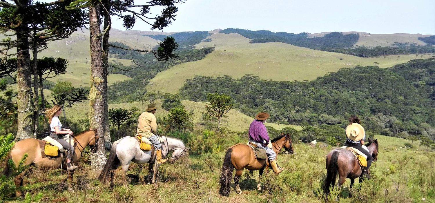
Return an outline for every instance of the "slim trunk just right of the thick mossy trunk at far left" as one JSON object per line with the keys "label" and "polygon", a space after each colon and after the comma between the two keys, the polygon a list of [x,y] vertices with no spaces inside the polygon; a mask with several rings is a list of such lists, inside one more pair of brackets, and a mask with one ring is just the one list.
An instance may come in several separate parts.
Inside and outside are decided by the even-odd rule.
{"label": "slim trunk just right of the thick mossy trunk at far left", "polygon": [[[36,32],[33,32],[33,36],[36,36]],[[36,133],[38,130],[38,118],[39,118],[39,109],[38,109],[38,45],[36,43],[36,39],[33,39],[33,106],[35,107],[35,112],[33,113],[33,137],[36,138]],[[42,89],[42,88],[41,88]]]}

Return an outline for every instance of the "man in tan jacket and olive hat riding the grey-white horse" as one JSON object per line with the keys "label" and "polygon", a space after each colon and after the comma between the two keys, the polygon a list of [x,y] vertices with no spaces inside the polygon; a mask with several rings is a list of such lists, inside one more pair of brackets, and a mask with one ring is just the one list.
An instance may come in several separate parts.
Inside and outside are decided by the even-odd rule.
{"label": "man in tan jacket and olive hat riding the grey-white horse", "polygon": [[157,121],[156,113],[157,108],[154,103],[148,105],[147,110],[139,116],[137,124],[137,134],[142,136],[142,139],[147,138],[156,148],[156,160],[158,164],[165,163],[167,159],[162,159],[162,143],[157,137]]}

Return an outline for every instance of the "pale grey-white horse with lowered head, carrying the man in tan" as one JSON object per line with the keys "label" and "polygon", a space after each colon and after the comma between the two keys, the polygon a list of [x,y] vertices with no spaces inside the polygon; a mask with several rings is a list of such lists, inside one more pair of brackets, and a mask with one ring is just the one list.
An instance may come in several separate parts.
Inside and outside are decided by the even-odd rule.
{"label": "pale grey-white horse with lowered head, carrying the man in tan", "polygon": [[[190,149],[190,147],[186,148],[183,141],[177,138],[168,136],[162,136],[162,138],[162,156],[166,156],[170,151],[174,151],[169,159],[169,163],[174,163],[175,160],[186,154]],[[155,183],[158,164],[155,162],[155,159],[152,159],[151,161],[150,159],[151,150],[141,150],[136,138],[125,136],[112,144],[109,158],[107,159],[107,163],[104,165],[104,168],[101,171],[98,179],[103,184],[110,179],[110,187],[113,187],[112,177],[114,176],[114,170],[116,170],[119,166],[122,166],[122,183],[124,186],[127,186],[127,180],[125,176],[127,174],[128,166],[130,166],[130,163],[133,161],[134,163],[140,164],[150,163],[150,166],[148,167],[147,184],[151,182]]]}

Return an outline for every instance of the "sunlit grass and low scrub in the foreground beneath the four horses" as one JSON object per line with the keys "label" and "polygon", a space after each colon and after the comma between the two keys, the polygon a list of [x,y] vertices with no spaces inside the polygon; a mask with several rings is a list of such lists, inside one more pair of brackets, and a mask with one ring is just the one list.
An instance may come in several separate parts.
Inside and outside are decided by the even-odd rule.
{"label": "sunlit grass and low scrub in the foreground beneath the four horses", "polygon": [[[234,135],[219,135],[230,136]],[[403,149],[400,140],[394,137],[376,136],[379,146],[378,160],[371,166],[371,180],[356,185],[349,190],[349,180],[336,193],[340,202],[433,202],[435,200],[434,158],[435,153],[420,149]],[[234,193],[234,185],[229,197],[218,194],[219,171],[224,150],[244,138],[228,140],[224,147],[215,153],[182,157],[173,164],[165,163],[159,169],[159,182],[145,185],[147,165],[132,163],[127,174],[135,176],[129,180],[129,187],[123,188],[120,170],[114,177],[115,188],[110,190],[96,180],[98,173],[90,168],[85,155],[80,168],[74,173],[74,193],[66,190],[66,173],[60,170],[33,170],[30,178],[25,179],[24,190],[31,195],[44,194],[44,202],[64,200],[67,202],[325,202],[321,185],[326,174],[325,155],[333,149],[327,146],[308,146],[305,143],[294,144],[295,154],[278,155],[278,164],[285,170],[278,176],[265,174],[261,180],[264,189],[256,190],[258,172],[250,176],[245,170],[241,177],[242,194]],[[390,145],[390,144],[393,145]],[[189,146],[189,143],[187,143]],[[137,179],[137,180],[136,180]],[[358,180],[356,181],[358,182]],[[432,191],[432,192],[431,192]],[[349,196],[352,193],[353,196]],[[422,198],[425,201],[422,201]],[[328,202],[335,202],[335,196]],[[11,202],[19,202],[13,200]]]}

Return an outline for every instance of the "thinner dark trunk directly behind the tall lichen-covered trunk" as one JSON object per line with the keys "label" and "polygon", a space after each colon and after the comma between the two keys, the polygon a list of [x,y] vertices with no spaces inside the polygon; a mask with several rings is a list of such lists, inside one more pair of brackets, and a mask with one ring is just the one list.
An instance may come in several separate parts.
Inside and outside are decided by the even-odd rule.
{"label": "thinner dark trunk directly behind the tall lichen-covered trunk", "polygon": [[[104,1],[104,5],[107,10],[109,10],[110,4],[108,0]],[[110,15],[108,13],[104,12],[104,29],[110,26],[109,21]],[[109,57],[109,29],[103,36],[103,63],[104,63],[104,75],[107,77],[107,64],[108,64],[108,57]],[[104,127],[105,127],[105,133],[104,133],[104,141],[106,144],[106,149],[110,150],[112,147],[112,140],[110,139],[110,126],[109,126],[109,105],[107,101],[107,80],[104,80]],[[118,126],[118,133],[119,133],[119,126]]]}

